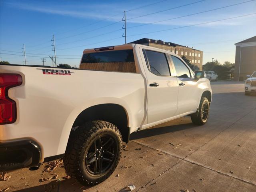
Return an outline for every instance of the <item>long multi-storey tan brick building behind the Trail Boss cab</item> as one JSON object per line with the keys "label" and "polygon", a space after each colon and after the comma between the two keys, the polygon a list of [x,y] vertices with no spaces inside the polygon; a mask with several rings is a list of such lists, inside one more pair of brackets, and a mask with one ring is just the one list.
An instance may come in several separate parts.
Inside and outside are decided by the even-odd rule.
{"label": "long multi-storey tan brick building behind the Trail Boss cab", "polygon": [[184,55],[187,59],[190,60],[191,64],[198,66],[198,68],[202,70],[203,52],[200,50],[196,50],[193,47],[190,48],[188,46],[183,46],[183,45],[179,45],[172,42],[164,42],[162,40],[154,40],[154,39],[148,39],[148,38],[142,38],[130,43],[142,44],[142,45],[164,49],[164,50],[173,52],[180,57]]}

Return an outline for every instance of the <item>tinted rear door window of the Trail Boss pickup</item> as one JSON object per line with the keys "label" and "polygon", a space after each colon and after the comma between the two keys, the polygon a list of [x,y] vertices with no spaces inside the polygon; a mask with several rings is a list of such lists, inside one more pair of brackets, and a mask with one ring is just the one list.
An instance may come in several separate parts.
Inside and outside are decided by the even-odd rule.
{"label": "tinted rear door window of the Trail Boss pickup", "polygon": [[170,76],[169,64],[164,53],[144,50],[150,71],[155,75]]}

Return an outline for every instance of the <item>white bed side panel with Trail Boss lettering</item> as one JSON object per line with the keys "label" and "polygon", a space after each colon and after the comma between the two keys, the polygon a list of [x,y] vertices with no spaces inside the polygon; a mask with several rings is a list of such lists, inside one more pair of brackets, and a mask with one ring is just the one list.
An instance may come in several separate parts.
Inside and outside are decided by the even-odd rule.
{"label": "white bed side panel with Trail Boss lettering", "polygon": [[[144,117],[144,79],[138,73],[72,70],[70,74],[44,71],[47,68],[1,66],[1,73],[18,73],[23,83],[11,88],[9,96],[17,103],[17,120],[0,125],[0,140],[33,138],[44,157],[65,152],[76,117],[86,108],[114,103],[128,116],[131,132],[137,130]],[[68,71],[67,71],[68,73]]]}

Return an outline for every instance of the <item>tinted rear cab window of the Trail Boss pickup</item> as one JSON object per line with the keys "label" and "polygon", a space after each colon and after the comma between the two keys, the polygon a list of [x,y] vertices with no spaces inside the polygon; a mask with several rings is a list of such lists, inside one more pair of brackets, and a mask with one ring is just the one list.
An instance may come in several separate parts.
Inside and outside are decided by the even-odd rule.
{"label": "tinted rear cab window of the Trail Boss pickup", "polygon": [[85,53],[80,69],[136,73],[132,49]]}

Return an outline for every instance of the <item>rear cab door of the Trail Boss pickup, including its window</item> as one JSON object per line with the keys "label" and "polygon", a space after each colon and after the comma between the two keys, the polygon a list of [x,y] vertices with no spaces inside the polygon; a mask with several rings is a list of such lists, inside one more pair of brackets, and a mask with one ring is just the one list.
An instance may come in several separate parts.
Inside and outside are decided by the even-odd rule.
{"label": "rear cab door of the Trail Boss pickup, including its window", "polygon": [[148,124],[170,118],[176,113],[178,104],[177,79],[172,74],[170,58],[164,52],[142,50],[147,78],[147,120]]}

